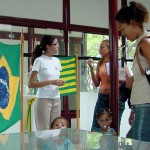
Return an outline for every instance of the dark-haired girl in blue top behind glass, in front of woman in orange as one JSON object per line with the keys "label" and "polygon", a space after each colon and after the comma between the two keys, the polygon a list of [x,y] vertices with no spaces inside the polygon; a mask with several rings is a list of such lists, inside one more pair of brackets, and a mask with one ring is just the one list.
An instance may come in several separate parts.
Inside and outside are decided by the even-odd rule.
{"label": "dark-haired girl in blue top behind glass, in front of woman in orange", "polygon": [[112,117],[108,109],[106,108],[100,109],[100,111],[96,114],[96,118],[99,124],[99,128],[94,128],[94,131],[107,132],[113,136],[117,136],[117,133],[115,132],[115,130],[113,128],[110,128]]}

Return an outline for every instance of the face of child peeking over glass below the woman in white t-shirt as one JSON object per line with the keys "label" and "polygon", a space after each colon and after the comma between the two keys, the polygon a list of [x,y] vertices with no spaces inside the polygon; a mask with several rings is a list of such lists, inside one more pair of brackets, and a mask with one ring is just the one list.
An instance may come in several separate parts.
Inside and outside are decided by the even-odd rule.
{"label": "face of child peeking over glass below the woman in white t-shirt", "polygon": [[64,119],[57,119],[53,125],[53,129],[67,128],[67,122]]}

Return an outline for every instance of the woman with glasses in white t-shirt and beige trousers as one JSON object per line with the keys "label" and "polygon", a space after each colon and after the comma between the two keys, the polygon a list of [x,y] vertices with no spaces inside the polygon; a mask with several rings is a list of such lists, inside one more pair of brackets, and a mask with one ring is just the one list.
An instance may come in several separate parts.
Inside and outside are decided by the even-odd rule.
{"label": "woman with glasses in white t-shirt and beige trousers", "polygon": [[[29,77],[29,88],[38,88],[36,93],[35,123],[37,130],[49,130],[49,125],[56,117],[61,116],[59,86],[65,84],[60,80],[62,70],[57,54],[59,44],[57,38],[43,36],[32,54],[32,71]],[[38,78],[38,81],[36,80]]]}

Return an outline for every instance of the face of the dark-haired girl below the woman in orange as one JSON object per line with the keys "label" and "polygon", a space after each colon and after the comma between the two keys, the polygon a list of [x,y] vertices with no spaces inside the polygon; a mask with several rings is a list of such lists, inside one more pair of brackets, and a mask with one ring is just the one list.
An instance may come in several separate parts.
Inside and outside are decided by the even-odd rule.
{"label": "face of the dark-haired girl below the woman in orange", "polygon": [[103,114],[98,119],[98,124],[100,125],[100,128],[102,130],[106,130],[110,127],[110,124],[112,122],[112,118],[108,114]]}

